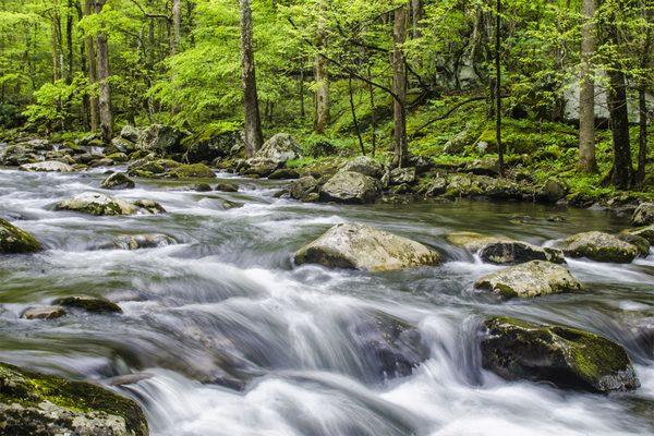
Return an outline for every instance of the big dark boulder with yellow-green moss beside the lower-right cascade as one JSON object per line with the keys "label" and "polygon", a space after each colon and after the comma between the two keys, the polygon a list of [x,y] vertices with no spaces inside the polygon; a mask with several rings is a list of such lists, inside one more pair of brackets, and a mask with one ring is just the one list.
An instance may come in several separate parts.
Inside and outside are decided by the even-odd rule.
{"label": "big dark boulder with yellow-green moss beside the lower-right cascade", "polygon": [[592,392],[640,386],[627,352],[595,334],[495,317],[484,323],[482,365],[502,378]]}

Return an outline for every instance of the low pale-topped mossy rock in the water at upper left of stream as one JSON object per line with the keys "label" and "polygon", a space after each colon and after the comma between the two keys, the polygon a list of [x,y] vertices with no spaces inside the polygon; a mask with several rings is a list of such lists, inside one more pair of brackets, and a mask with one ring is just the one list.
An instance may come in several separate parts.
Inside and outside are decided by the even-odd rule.
{"label": "low pale-topped mossy rock in the water at upper left of stream", "polygon": [[98,192],[83,192],[72,198],[57,203],[56,208],[90,215],[134,215],[137,213],[158,214],[166,211],[160,204],[152,199],[140,199],[130,203]]}

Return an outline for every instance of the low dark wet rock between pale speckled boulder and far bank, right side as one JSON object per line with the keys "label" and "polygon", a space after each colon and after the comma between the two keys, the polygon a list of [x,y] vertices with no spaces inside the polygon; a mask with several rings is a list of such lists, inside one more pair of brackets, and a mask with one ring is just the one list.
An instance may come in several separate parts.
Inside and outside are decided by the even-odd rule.
{"label": "low dark wet rock between pale speckled boulder and far bank, right side", "polygon": [[516,265],[529,261],[547,261],[562,264],[564,253],[521,241],[496,241],[482,246],[479,256],[484,262],[498,265]]}

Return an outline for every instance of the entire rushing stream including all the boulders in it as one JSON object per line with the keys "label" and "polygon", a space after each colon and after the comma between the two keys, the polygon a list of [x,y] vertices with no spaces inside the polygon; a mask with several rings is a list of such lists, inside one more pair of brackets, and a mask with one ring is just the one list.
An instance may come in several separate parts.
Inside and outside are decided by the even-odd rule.
{"label": "entire rushing stream including all the boulders in it", "polygon": [[654,432],[646,204],[337,205],[411,170],[101,164],[0,169],[5,433]]}

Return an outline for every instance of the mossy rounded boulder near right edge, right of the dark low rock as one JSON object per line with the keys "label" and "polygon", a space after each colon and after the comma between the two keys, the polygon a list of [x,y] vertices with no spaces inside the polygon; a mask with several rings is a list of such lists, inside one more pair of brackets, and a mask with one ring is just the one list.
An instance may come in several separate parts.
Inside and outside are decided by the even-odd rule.
{"label": "mossy rounded boulder near right edge, right of the dark low rock", "polygon": [[574,234],[561,244],[567,256],[586,257],[595,262],[628,264],[638,255],[638,249],[613,234],[590,231]]}

